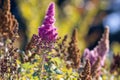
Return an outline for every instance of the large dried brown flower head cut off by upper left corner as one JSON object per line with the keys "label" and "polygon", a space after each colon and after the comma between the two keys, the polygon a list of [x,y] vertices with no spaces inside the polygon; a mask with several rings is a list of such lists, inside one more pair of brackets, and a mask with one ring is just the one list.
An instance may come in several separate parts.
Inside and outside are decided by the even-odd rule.
{"label": "large dried brown flower head cut off by upper left corner", "polygon": [[0,35],[11,39],[17,36],[17,32],[18,22],[10,12],[10,0],[4,0],[0,9]]}

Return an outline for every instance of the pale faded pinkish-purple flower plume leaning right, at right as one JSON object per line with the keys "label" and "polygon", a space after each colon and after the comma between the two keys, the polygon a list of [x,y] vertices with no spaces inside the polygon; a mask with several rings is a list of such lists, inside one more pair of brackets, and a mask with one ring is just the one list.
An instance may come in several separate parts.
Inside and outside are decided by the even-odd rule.
{"label": "pale faded pinkish-purple flower plume leaning right, at right", "polygon": [[101,40],[99,41],[98,45],[91,51],[89,49],[85,49],[83,57],[85,59],[89,59],[91,65],[93,65],[97,61],[98,57],[100,57],[100,64],[101,66],[103,66],[108,51],[109,51],[109,28],[106,27],[105,32]]}

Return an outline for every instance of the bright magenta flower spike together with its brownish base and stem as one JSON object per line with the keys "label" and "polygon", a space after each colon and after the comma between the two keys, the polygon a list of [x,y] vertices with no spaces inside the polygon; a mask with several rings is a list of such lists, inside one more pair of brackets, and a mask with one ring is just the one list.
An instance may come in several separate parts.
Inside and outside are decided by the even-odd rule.
{"label": "bright magenta flower spike together with its brownish base and stem", "polygon": [[[43,20],[42,25],[38,28],[38,35],[33,35],[32,40],[26,47],[27,51],[31,50],[32,48],[38,50],[40,52],[40,56],[42,58],[41,63],[39,64],[39,70],[40,78],[42,78],[42,73],[44,70],[44,63],[45,58],[51,51],[52,48],[54,48],[54,43],[57,40],[57,32],[56,28],[54,26],[55,23],[55,12],[54,12],[55,5],[54,3],[50,3],[48,10],[46,12],[45,18]],[[36,53],[36,52],[35,52]],[[32,54],[30,57],[28,57],[28,61],[34,57],[35,54]]]}

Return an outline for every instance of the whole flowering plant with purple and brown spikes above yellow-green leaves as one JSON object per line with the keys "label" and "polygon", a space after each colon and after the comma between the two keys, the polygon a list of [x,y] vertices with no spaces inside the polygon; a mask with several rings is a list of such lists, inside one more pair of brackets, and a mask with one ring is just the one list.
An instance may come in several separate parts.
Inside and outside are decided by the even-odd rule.
{"label": "whole flowering plant with purple and brown spikes above yellow-green leaves", "polygon": [[16,46],[19,23],[10,6],[10,0],[4,0],[0,8],[0,80],[120,80],[119,54],[113,55],[106,68],[110,50],[108,26],[98,45],[82,53],[77,28],[71,36],[58,35],[55,3],[51,2],[38,33],[21,50]]}

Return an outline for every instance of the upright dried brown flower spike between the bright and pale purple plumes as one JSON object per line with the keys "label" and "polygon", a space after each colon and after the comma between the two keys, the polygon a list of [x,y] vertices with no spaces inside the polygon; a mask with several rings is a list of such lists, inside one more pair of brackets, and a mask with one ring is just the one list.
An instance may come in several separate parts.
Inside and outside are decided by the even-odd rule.
{"label": "upright dried brown flower spike between the bright and pale purple plumes", "polygon": [[68,60],[73,62],[73,68],[79,68],[80,65],[80,50],[77,47],[77,29],[74,29],[71,42],[68,47]]}

